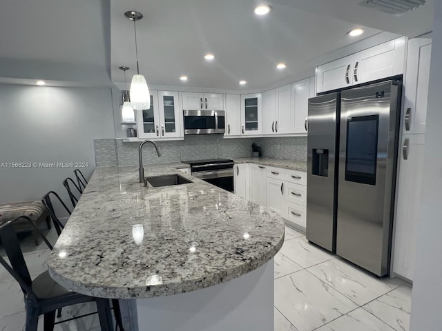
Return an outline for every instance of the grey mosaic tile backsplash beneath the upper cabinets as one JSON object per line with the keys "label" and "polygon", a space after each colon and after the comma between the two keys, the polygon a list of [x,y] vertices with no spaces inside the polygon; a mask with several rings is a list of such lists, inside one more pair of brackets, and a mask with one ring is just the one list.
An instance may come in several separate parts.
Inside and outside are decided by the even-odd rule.
{"label": "grey mosaic tile backsplash beneath the upper cabinets", "polygon": [[[186,136],[182,141],[158,141],[162,156],[155,148],[143,148],[143,163],[169,163],[201,159],[251,157],[251,144],[262,149],[263,157],[307,161],[307,137],[224,139],[222,134]],[[140,143],[124,143],[121,139],[95,139],[97,167],[138,164]]]}

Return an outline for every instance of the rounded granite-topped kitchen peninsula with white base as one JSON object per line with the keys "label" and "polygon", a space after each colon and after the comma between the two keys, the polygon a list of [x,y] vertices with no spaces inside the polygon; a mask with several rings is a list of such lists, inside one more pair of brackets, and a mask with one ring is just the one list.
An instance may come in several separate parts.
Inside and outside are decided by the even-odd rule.
{"label": "rounded granite-topped kitchen peninsula with white base", "polygon": [[136,299],[139,330],[272,330],[282,218],[177,170],[186,167],[147,165],[146,177],[193,182],[162,188],[138,183],[136,167],[97,168],[50,254],[51,277],[82,294]]}

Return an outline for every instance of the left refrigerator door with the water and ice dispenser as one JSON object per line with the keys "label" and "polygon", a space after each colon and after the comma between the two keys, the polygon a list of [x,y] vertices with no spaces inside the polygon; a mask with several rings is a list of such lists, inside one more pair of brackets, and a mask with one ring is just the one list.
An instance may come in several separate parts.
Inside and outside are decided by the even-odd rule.
{"label": "left refrigerator door with the water and ice dispenser", "polygon": [[309,99],[307,137],[307,239],[336,248],[336,143],[339,94]]}

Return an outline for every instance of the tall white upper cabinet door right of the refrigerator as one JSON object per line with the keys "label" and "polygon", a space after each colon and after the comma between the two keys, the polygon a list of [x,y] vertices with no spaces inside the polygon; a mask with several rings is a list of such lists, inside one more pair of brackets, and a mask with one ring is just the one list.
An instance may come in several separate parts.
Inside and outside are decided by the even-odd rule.
{"label": "tall white upper cabinet door right of the refrigerator", "polygon": [[404,134],[425,133],[431,43],[430,38],[414,38],[408,43],[407,72],[404,83],[402,129]]}

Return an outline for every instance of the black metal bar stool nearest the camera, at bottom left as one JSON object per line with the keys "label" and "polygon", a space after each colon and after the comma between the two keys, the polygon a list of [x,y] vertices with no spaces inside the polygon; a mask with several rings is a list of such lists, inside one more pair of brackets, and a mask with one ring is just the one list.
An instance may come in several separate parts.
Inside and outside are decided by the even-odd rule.
{"label": "black metal bar stool nearest the camera, at bottom left", "polygon": [[[46,245],[48,245],[48,248],[52,250],[52,245],[29,217],[21,216],[17,217],[17,219],[28,220],[30,225],[35,228]],[[44,315],[44,331],[53,331],[55,311],[57,309],[89,301],[97,303],[102,331],[112,331],[113,320],[111,301],[109,299],[89,297],[67,290],[55,282],[47,271],[39,274],[35,279],[31,279],[19,240],[17,239],[17,233],[12,226],[17,219],[8,221],[0,226],[0,238],[10,261],[9,264],[0,257],[0,264],[14,277],[23,291],[26,309],[26,331],[37,331],[40,315]]]}

